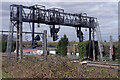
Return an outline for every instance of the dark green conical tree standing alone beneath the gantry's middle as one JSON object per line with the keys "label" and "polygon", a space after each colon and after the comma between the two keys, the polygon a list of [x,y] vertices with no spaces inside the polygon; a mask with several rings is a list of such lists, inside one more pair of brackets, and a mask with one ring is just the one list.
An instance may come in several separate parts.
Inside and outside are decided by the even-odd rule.
{"label": "dark green conical tree standing alone beneath the gantry's middle", "polygon": [[62,37],[58,44],[57,44],[57,54],[61,56],[67,55],[67,45],[68,45],[68,38],[64,34],[64,37]]}

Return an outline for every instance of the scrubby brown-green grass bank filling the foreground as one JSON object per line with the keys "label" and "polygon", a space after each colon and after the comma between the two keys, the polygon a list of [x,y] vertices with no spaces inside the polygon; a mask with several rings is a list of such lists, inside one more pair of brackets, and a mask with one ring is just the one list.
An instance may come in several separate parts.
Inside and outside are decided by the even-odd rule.
{"label": "scrubby brown-green grass bank filling the foreground", "polygon": [[[117,70],[72,63],[67,57],[24,56],[18,63],[3,61],[3,78],[116,78]],[[10,74],[11,73],[11,74]]]}

